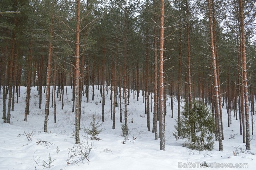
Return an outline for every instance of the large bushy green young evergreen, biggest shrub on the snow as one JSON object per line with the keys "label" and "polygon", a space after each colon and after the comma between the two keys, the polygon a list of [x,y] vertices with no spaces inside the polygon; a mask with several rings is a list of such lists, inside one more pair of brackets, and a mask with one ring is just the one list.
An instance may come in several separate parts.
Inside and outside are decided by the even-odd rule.
{"label": "large bushy green young evergreen, biggest shrub on the snow", "polygon": [[[194,101],[192,108],[185,105],[181,114],[180,129],[177,120],[174,126],[175,139],[185,139],[182,145],[193,150],[212,150],[215,124],[209,108],[203,103]],[[180,136],[178,131],[180,131]]]}

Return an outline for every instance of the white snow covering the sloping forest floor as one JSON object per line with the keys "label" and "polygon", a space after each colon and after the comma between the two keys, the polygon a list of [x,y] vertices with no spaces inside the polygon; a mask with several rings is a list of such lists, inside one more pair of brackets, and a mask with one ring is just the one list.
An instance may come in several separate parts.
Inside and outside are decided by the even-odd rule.
{"label": "white snow covering the sloping forest floor", "polygon": [[[182,147],[183,141],[175,141],[172,133],[174,131],[175,119],[177,118],[177,101],[174,100],[174,118],[171,118],[171,99],[167,101],[165,151],[160,150],[160,139],[154,140],[154,133],[147,131],[145,104],[142,103],[142,95],[133,100],[130,97],[128,109],[128,123],[130,134],[128,140],[123,144],[124,137],[121,136],[121,123],[119,122],[119,108],[116,107],[116,129],[112,129],[110,120],[110,91],[105,92],[106,105],[105,122],[102,122],[102,132],[97,136],[100,141],[88,139],[92,147],[89,160],[77,164],[67,164],[68,148],[75,145],[75,113],[72,113],[72,89],[68,88],[68,100],[64,94],[64,110],[61,110],[61,101],[57,102],[57,123],[54,124],[54,108],[51,107],[48,116],[48,133],[44,132],[44,111],[45,94],[43,93],[42,109],[39,109],[39,96],[36,87],[31,87],[30,113],[27,115],[27,122],[24,122],[26,87],[21,87],[20,100],[15,104],[14,111],[11,111],[11,123],[0,122],[0,170],[30,170],[47,169],[43,166],[44,161],[49,162],[49,154],[52,159],[51,170],[178,170],[178,169],[203,169],[200,163],[204,161],[214,169],[230,169],[232,166],[248,166],[248,168],[232,169],[254,169],[256,167],[256,141],[251,135],[251,150],[245,150],[245,143],[240,135],[239,120],[232,117],[232,124],[228,128],[228,114],[226,108],[222,110],[223,116],[223,151],[218,151],[218,142],[212,151],[195,151]],[[140,93],[141,94],[141,93]],[[2,95],[1,95],[2,97]],[[101,122],[102,97],[95,88],[94,101],[91,101],[92,92],[90,89],[89,103],[86,103],[85,96],[82,96],[81,128],[89,127],[92,115]],[[52,97],[50,97],[52,100]],[[95,104],[95,102],[98,104]],[[119,102],[119,100],[117,101]],[[255,102],[256,103],[256,102]],[[182,103],[183,104],[183,103]],[[0,109],[2,113],[2,98]],[[50,101],[51,106],[51,101]],[[118,104],[119,106],[119,104]],[[152,105],[153,106],[153,105]],[[124,107],[124,104],[122,104]],[[153,108],[152,108],[153,109]],[[124,112],[122,113],[124,114]],[[153,113],[150,113],[150,129],[153,125]],[[233,114],[233,112],[232,112]],[[1,115],[2,116],[2,115]],[[124,121],[124,115],[123,115]],[[250,121],[251,123],[251,121]],[[255,127],[255,124],[254,124]],[[251,125],[250,125],[251,130]],[[33,133],[32,133],[33,132]],[[31,134],[28,140],[26,134]],[[234,138],[231,138],[235,135]],[[251,132],[250,132],[251,133]],[[83,130],[80,131],[80,141],[86,136]],[[137,137],[137,138],[136,138]],[[134,140],[136,138],[136,140]],[[231,138],[231,139],[229,139]],[[44,143],[37,143],[45,141]],[[58,148],[58,151],[57,151]],[[228,166],[228,168],[222,168]],[[217,167],[217,168],[216,168]]]}

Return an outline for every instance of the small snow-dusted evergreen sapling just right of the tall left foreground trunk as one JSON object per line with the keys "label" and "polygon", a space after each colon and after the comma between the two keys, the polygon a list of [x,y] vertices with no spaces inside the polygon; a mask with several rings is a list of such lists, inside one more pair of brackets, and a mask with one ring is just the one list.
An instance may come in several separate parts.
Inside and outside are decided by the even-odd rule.
{"label": "small snow-dusted evergreen sapling just right of the tall left foreground trunk", "polygon": [[92,115],[92,121],[90,123],[90,129],[89,128],[84,128],[84,131],[89,134],[91,137],[90,139],[92,140],[101,140],[100,138],[97,138],[96,136],[98,136],[98,134],[100,132],[102,132],[102,129],[99,129],[99,127],[101,126],[101,123],[100,122],[95,122],[95,116],[94,114]]}

